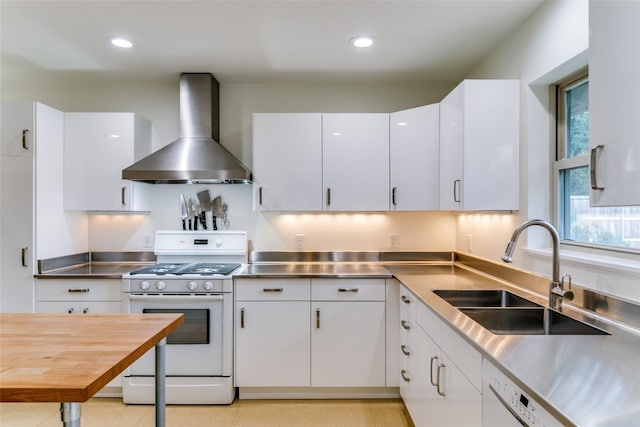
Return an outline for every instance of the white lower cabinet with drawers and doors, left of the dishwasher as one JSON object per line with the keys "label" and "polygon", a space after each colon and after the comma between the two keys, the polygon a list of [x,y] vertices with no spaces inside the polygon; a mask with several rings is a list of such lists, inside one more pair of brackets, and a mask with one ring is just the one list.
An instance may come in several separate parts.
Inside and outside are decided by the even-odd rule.
{"label": "white lower cabinet with drawers and doors, left of the dishwasher", "polygon": [[[401,297],[406,294],[402,286]],[[405,308],[412,303],[416,303],[415,297],[411,303],[400,302],[400,334],[405,346],[401,348],[400,392],[414,424],[479,427],[482,356],[424,303],[416,303],[416,315],[412,317],[413,311]]]}

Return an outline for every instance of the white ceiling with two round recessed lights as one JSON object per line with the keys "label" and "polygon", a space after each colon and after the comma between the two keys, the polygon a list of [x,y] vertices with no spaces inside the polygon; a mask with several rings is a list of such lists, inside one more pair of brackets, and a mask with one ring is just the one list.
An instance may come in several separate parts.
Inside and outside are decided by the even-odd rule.
{"label": "white ceiling with two round recessed lights", "polygon": [[[457,81],[542,1],[2,0],[0,67],[5,81]],[[356,50],[359,34],[376,45]],[[112,35],[135,48],[112,48]]]}

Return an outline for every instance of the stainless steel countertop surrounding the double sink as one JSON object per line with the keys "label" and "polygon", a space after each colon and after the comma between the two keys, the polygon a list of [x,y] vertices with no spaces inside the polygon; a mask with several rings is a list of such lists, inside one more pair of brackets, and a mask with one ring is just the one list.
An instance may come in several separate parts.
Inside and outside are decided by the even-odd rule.
{"label": "stainless steel countertop surrounding the double sink", "polygon": [[459,266],[388,266],[394,276],[524,391],[567,425],[632,426],[640,420],[640,335],[563,312],[611,333],[494,335],[435,295],[435,289],[509,289],[547,305],[546,298]]}

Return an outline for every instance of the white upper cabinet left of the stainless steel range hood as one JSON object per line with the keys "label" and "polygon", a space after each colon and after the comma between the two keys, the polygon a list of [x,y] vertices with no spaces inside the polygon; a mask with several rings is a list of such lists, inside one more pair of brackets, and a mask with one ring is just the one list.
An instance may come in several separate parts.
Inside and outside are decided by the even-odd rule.
{"label": "white upper cabinet left of the stainless steel range hood", "polygon": [[66,113],[66,210],[149,211],[150,184],[122,169],[151,152],[151,123],[133,113]]}

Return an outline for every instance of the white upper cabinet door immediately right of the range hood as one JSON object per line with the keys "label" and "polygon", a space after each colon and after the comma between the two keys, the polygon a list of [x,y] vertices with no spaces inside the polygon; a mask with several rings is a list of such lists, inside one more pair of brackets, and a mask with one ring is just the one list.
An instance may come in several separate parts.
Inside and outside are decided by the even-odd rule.
{"label": "white upper cabinet door immediately right of the range hood", "polygon": [[254,210],[322,210],[322,114],[253,115]]}

